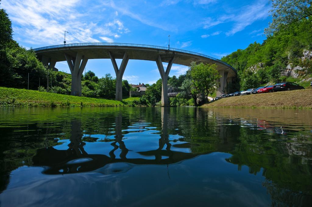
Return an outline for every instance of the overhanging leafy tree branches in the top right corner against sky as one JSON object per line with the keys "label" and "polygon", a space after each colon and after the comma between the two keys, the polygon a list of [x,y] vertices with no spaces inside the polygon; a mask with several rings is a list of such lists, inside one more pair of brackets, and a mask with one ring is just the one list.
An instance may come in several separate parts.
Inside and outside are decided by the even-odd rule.
{"label": "overhanging leafy tree branches in the top right corner against sky", "polygon": [[264,30],[267,36],[312,15],[311,0],[270,0],[272,22]]}

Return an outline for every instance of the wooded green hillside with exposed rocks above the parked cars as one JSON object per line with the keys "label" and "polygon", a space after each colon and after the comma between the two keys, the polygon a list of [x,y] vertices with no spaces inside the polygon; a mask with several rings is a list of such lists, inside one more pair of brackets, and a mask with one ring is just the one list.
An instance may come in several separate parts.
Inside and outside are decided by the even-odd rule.
{"label": "wooded green hillside with exposed rocks above the parked cars", "polygon": [[305,18],[268,36],[262,44],[254,42],[222,57],[238,72],[238,79],[225,93],[257,88],[281,81],[304,87],[312,81],[312,22]]}

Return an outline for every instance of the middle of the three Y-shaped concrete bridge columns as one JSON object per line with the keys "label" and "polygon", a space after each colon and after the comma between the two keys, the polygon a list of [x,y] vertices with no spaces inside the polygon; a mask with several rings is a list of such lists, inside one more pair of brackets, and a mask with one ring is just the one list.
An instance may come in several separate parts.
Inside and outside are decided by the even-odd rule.
{"label": "middle of the three Y-shaped concrete bridge columns", "polygon": [[128,54],[125,52],[124,57],[122,58],[121,65],[118,69],[116,60],[111,52],[108,52],[110,55],[110,60],[112,61],[115,74],[116,74],[116,101],[122,101],[122,76],[124,75],[124,70],[129,61]]}

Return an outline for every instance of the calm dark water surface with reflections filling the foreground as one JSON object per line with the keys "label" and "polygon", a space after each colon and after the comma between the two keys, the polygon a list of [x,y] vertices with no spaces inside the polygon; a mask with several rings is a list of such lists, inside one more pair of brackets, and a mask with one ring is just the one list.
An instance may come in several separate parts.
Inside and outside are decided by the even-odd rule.
{"label": "calm dark water surface with reflections filling the foreground", "polygon": [[311,117],[0,108],[0,206],[309,206]]}

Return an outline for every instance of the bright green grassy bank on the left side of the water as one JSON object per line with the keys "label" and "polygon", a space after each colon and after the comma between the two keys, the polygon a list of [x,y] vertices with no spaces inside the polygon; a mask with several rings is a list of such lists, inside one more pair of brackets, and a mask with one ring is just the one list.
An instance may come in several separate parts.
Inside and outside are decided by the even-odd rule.
{"label": "bright green grassy bank on the left side of the water", "polygon": [[0,87],[0,106],[56,107],[56,106],[126,106],[134,98],[121,101],[77,97],[35,90]]}

